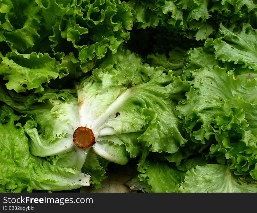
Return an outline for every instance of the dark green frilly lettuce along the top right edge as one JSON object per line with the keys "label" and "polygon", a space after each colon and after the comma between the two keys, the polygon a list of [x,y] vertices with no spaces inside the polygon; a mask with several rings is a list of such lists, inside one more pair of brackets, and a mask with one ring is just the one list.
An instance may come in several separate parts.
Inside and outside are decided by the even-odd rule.
{"label": "dark green frilly lettuce along the top right edge", "polygon": [[151,1],[130,0],[138,28],[165,27],[190,39],[206,40],[216,35],[218,23],[224,25],[248,22],[256,11],[256,3],[250,1]]}

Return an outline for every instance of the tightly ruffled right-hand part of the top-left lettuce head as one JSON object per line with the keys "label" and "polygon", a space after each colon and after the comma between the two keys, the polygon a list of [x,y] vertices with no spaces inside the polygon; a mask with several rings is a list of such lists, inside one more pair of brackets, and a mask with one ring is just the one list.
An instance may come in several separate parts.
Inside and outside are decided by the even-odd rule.
{"label": "tightly ruffled right-hand part of the top-left lettuce head", "polygon": [[[96,61],[107,53],[115,54],[119,46],[128,41],[128,30],[133,26],[132,10],[125,1],[82,1],[71,6],[51,2],[42,14],[44,23],[51,24],[48,28],[52,28],[49,36],[52,51],[56,55],[63,52],[65,42],[67,49],[75,50],[81,69],[87,72]],[[50,15],[53,11],[57,16],[54,19]],[[57,18],[60,21],[56,22]]]}

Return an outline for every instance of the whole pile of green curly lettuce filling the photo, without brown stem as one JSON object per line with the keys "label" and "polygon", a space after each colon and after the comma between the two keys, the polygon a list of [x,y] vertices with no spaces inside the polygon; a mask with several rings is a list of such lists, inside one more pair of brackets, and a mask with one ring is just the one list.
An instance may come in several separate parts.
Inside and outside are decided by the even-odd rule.
{"label": "whole pile of green curly lettuce filling the photo, without brown stem", "polygon": [[[0,3],[0,191],[257,192],[257,2]],[[77,147],[90,128],[96,143]]]}

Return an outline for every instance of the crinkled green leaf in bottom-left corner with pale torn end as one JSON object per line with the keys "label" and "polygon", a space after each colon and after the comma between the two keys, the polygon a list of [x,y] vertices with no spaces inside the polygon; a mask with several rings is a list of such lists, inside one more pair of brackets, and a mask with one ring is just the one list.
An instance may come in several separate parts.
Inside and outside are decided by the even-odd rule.
{"label": "crinkled green leaf in bottom-left corner with pale torn end", "polygon": [[[90,185],[90,176],[78,170],[54,166],[29,152],[24,127],[6,105],[1,107],[0,191],[69,190]],[[14,123],[17,123],[16,125]]]}

